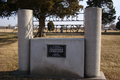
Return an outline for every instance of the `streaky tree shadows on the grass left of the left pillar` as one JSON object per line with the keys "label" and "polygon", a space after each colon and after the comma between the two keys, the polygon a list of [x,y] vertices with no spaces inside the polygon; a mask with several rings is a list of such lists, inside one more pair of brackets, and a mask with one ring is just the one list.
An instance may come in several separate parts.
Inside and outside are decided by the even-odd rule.
{"label": "streaky tree shadows on the grass left of the left pillar", "polygon": [[15,33],[0,33],[0,46],[15,43],[18,36]]}

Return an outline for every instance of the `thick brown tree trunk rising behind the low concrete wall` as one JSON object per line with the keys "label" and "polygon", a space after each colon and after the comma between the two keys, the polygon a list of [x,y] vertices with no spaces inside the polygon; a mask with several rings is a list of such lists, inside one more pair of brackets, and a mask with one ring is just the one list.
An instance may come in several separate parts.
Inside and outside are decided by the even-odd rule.
{"label": "thick brown tree trunk rising behind the low concrete wall", "polygon": [[44,28],[45,28],[45,16],[42,15],[39,18],[39,28],[35,37],[45,37],[43,32]]}

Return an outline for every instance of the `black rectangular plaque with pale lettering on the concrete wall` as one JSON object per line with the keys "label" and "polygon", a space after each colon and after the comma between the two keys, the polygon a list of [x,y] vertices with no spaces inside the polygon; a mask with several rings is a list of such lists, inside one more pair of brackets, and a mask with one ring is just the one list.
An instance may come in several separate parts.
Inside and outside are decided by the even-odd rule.
{"label": "black rectangular plaque with pale lettering on the concrete wall", "polygon": [[66,45],[47,45],[47,57],[66,57]]}

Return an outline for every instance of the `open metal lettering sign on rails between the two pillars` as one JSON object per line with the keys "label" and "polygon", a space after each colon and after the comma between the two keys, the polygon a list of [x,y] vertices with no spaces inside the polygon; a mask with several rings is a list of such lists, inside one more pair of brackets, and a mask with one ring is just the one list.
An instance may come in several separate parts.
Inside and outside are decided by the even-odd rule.
{"label": "open metal lettering sign on rails between the two pillars", "polygon": [[[63,13],[62,13],[63,14]],[[57,14],[57,15],[62,15]],[[40,14],[39,14],[40,15]],[[60,18],[56,15],[50,15],[45,19],[45,25],[43,32],[44,33],[83,33],[84,32],[84,13],[74,13],[71,14],[64,14],[66,15],[64,18]],[[52,21],[54,23],[55,29],[50,31],[48,30],[48,22]],[[33,20],[34,30],[38,30],[39,20]]]}

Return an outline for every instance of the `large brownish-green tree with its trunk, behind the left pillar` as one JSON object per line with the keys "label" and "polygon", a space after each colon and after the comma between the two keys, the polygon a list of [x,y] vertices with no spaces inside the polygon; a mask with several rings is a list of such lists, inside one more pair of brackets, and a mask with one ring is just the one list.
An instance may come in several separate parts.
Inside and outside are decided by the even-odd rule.
{"label": "large brownish-green tree with its trunk, behind the left pillar", "polygon": [[45,25],[45,18],[50,15],[64,18],[66,14],[73,14],[82,9],[79,5],[81,0],[8,0],[8,2],[1,1],[0,16],[9,17],[16,14],[18,9],[32,9],[34,17],[39,19],[39,29],[36,36],[41,37]]}

